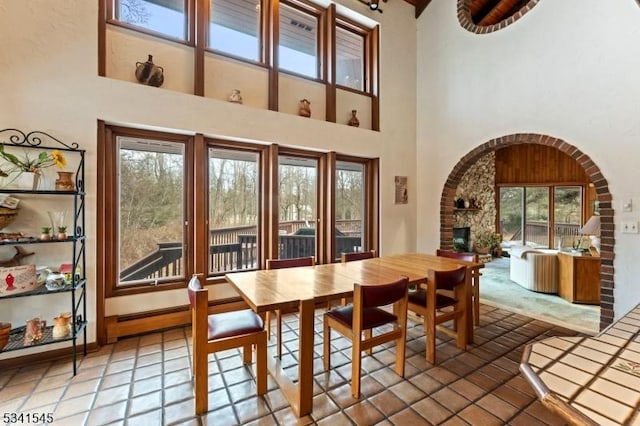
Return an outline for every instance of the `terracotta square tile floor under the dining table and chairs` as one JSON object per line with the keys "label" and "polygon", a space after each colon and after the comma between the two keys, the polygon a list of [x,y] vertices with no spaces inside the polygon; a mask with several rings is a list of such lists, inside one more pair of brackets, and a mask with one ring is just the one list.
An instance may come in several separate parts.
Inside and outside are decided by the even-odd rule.
{"label": "terracotta square tile floor under the dining table and chairs", "polygon": [[[536,399],[518,366],[527,343],[577,333],[482,305],[481,326],[466,352],[439,335],[436,365],[424,359],[424,335],[411,323],[405,378],[395,374],[393,346],[363,359],[362,397],[350,393],[350,344],[334,333],[332,370],[322,371],[322,316],[316,317],[314,410],[297,419],[269,379],[255,395],[251,368],[238,350],[209,358],[209,409],[193,415],[190,328],[122,339],[81,359],[72,377],[67,360],[0,371],[0,416],[51,413],[62,425],[562,425]],[[295,370],[295,315],[284,322],[283,363]],[[272,344],[273,344],[272,339]],[[295,374],[295,373],[294,373]],[[31,420],[28,422],[27,420]],[[36,421],[33,421],[36,420]],[[20,423],[18,423],[20,424]]]}

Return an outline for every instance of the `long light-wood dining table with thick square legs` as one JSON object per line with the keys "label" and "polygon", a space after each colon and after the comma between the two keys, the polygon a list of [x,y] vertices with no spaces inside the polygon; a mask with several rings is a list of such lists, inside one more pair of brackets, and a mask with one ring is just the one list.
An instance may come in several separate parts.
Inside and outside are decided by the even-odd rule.
{"label": "long light-wood dining table with thick square legs", "polygon": [[[477,276],[479,263],[438,257],[425,253],[404,253],[347,263],[331,263],[296,268],[233,272],[226,279],[244,301],[258,314],[276,309],[297,307],[298,375],[285,374],[277,357],[269,357],[269,372],[280,386],[293,411],[299,417],[313,409],[314,318],[316,305],[351,297],[354,283],[384,284],[400,276],[409,284],[427,282],[429,269],[447,271],[460,265]],[[428,285],[428,283],[427,283]],[[468,343],[473,342],[471,288],[464,290]]]}

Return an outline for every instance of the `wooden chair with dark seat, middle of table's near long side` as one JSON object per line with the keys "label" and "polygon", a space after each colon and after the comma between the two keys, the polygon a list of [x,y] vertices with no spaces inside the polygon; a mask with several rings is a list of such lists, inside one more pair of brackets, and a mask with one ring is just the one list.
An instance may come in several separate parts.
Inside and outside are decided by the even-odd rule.
{"label": "wooden chair with dark seat, middle of table's near long side", "polygon": [[[323,363],[325,371],[331,365],[331,329],[349,339],[351,348],[351,394],[360,396],[362,351],[371,352],[382,343],[396,344],[396,373],[404,377],[405,344],[407,340],[407,295],[409,279],[401,277],[386,284],[354,284],[353,304],[341,306],[324,314]],[[385,306],[393,304],[393,313]],[[390,324],[390,330],[373,329]],[[363,337],[364,333],[364,337]]]}

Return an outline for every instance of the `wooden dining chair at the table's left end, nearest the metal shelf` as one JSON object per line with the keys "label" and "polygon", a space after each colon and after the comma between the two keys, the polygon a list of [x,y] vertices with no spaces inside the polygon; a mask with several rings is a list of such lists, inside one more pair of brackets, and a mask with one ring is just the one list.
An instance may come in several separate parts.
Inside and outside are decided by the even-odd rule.
{"label": "wooden dining chair at the table's left end, nearest the metal shelf", "polygon": [[259,315],[250,309],[209,315],[209,291],[194,276],[187,287],[191,305],[192,373],[196,394],[195,413],[209,408],[210,353],[243,348],[243,361],[251,363],[256,347],[257,394],[267,392],[267,332]]}

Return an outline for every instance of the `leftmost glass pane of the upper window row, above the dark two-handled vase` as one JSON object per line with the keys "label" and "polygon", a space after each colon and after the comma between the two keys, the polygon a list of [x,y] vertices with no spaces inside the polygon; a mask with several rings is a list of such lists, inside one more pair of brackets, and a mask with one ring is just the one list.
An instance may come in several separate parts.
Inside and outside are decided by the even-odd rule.
{"label": "leftmost glass pane of the upper window row, above the dark two-handled vase", "polygon": [[186,40],[184,0],[116,0],[119,21]]}

